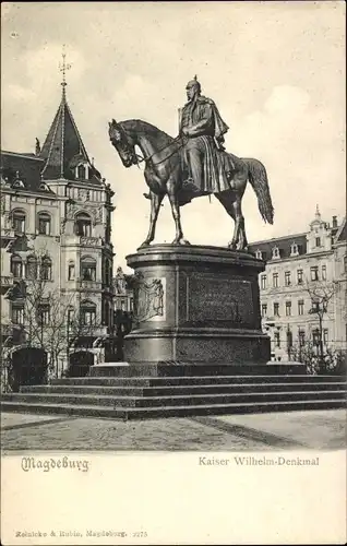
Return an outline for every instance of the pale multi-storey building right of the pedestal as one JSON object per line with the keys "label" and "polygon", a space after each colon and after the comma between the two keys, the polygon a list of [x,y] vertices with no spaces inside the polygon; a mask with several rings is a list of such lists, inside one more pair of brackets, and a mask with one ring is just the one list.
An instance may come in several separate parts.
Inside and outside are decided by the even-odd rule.
{"label": "pale multi-storey building right of the pedestal", "polygon": [[347,349],[346,218],[322,219],[316,207],[307,233],[250,245],[266,261],[260,275],[263,330],[272,358],[286,360],[308,343]]}

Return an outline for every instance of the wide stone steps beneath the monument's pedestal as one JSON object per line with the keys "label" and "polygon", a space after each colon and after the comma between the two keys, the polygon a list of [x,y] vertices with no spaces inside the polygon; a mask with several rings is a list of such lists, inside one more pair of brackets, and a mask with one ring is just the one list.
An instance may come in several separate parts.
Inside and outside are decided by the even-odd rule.
{"label": "wide stone steps beneath the monument's pedestal", "polygon": [[[23,387],[19,393],[2,396],[2,411],[147,419],[346,406],[344,377],[246,375],[244,369],[239,375],[144,377],[131,375],[131,366],[106,368],[113,372],[117,369],[119,375],[64,378],[50,385]],[[172,368],[163,367],[166,371]]]}

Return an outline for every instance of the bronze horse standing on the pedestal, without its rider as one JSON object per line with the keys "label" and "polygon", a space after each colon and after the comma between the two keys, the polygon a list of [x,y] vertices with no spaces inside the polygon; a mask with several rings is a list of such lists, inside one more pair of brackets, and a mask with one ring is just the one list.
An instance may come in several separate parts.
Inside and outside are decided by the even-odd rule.
{"label": "bronze horse standing on the pedestal, without its rider", "polygon": [[[158,212],[166,194],[176,224],[176,237],[172,244],[189,245],[183,237],[180,206],[206,193],[193,193],[189,188],[184,188],[183,181],[188,177],[182,154],[184,136],[172,139],[155,126],[140,119],[129,119],[119,123],[112,119],[108,132],[124,167],[145,162],[144,177],[151,190],[145,197],[151,199],[151,223],[147,237],[141,247],[148,246],[154,239]],[[136,154],[135,146],[139,146],[143,157]],[[235,166],[229,178],[230,190],[214,195],[235,221],[234,236],[228,247],[234,250],[247,250],[241,202],[248,180],[255,191],[264,222],[273,223],[274,209],[264,165],[258,159],[241,159],[232,154],[229,155]]]}

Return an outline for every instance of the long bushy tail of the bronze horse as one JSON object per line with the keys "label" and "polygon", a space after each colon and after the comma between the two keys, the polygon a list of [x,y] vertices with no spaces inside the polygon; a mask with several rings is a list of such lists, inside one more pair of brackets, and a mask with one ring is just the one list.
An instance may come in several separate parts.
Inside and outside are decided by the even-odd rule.
{"label": "long bushy tail of the bronze horse", "polygon": [[258,198],[259,212],[264,222],[274,223],[274,207],[271,200],[267,174],[258,159],[243,159],[248,165],[248,178]]}

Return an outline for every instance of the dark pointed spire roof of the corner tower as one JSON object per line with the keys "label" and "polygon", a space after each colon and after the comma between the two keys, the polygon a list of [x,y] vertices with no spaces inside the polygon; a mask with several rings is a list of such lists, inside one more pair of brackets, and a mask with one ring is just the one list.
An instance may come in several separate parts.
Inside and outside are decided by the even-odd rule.
{"label": "dark pointed spire roof of the corner tower", "polygon": [[[79,163],[87,164],[89,167],[89,178],[92,183],[101,183],[100,174],[91,164],[77,127],[74,122],[67,95],[63,88],[61,102],[53,122],[50,126],[39,157],[45,159],[43,178],[45,180],[56,180],[65,178],[75,180],[74,167]],[[80,179],[84,180],[84,179]]]}

